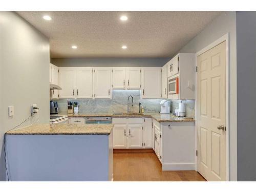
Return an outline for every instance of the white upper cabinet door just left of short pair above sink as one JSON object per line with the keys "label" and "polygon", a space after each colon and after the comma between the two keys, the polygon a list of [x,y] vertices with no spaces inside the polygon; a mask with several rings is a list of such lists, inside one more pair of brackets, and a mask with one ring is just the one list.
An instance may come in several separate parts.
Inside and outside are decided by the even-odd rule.
{"label": "white upper cabinet door just left of short pair above sink", "polygon": [[94,98],[110,99],[112,86],[112,68],[94,68]]}

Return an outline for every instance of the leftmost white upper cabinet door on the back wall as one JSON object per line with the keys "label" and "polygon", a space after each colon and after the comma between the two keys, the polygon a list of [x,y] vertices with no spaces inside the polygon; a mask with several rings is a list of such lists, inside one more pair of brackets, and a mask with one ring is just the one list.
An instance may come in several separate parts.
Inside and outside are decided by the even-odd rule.
{"label": "leftmost white upper cabinet door on the back wall", "polygon": [[59,98],[75,98],[75,69],[59,68]]}

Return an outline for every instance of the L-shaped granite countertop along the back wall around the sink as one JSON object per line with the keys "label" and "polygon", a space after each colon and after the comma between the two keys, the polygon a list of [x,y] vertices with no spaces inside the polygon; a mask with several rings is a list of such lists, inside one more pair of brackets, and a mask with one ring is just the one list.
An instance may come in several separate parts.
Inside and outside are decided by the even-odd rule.
{"label": "L-shaped granite countertop along the back wall around the sink", "polygon": [[172,114],[160,114],[160,113],[144,113],[144,114],[67,114],[60,113],[58,115],[67,115],[68,117],[152,117],[158,122],[184,122],[184,121],[195,121],[194,118],[177,117]]}

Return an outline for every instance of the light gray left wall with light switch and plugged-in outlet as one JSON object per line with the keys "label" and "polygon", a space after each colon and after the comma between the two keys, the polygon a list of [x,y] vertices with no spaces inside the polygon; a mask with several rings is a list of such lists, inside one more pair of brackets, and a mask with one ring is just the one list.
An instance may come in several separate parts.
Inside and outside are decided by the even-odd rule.
{"label": "light gray left wall with light switch and plugged-in outlet", "polygon": [[[14,12],[0,11],[0,180],[5,180],[3,138],[6,131],[39,109],[39,122],[49,123],[49,39]],[[14,105],[14,116],[8,106]],[[35,122],[36,116],[24,125]]]}

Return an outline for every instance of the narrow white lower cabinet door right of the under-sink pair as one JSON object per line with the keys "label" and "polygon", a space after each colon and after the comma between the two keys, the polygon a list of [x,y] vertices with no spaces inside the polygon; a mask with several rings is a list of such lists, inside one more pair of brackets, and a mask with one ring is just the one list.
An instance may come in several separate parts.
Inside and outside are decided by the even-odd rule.
{"label": "narrow white lower cabinet door right of the under-sink pair", "polygon": [[152,148],[152,118],[145,118],[143,122],[143,147]]}

